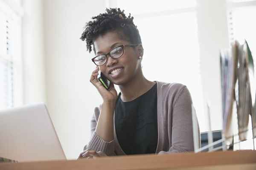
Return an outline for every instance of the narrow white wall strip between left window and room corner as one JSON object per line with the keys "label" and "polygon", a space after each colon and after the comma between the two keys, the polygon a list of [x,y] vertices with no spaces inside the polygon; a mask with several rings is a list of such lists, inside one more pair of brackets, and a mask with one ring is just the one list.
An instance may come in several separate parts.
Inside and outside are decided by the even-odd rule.
{"label": "narrow white wall strip between left window and room corner", "polygon": [[23,0],[23,103],[46,102],[42,0]]}

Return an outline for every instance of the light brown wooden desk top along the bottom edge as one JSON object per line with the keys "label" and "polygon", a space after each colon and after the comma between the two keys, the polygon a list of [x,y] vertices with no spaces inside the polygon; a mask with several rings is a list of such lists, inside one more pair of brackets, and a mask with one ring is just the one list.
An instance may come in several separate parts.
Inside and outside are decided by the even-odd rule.
{"label": "light brown wooden desk top along the bottom edge", "polygon": [[256,170],[256,150],[1,163],[0,170]]}

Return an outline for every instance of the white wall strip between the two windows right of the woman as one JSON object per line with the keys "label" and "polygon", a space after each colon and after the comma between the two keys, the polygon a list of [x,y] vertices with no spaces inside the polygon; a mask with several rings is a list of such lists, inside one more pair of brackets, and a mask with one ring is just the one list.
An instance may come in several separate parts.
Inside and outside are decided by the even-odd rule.
{"label": "white wall strip between the two windows right of the woman", "polygon": [[[206,102],[209,102],[212,130],[220,130],[222,106],[219,50],[229,47],[226,0],[197,0],[197,2],[204,106],[206,107]],[[205,108],[204,111],[206,113],[207,109]],[[207,127],[205,125],[202,131],[207,131]]]}

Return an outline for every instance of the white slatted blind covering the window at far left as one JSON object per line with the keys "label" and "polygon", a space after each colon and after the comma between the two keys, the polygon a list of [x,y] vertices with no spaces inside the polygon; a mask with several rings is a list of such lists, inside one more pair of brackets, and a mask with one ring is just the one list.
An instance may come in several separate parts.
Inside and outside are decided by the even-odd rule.
{"label": "white slatted blind covering the window at far left", "polygon": [[0,2],[0,109],[14,106],[15,13]]}

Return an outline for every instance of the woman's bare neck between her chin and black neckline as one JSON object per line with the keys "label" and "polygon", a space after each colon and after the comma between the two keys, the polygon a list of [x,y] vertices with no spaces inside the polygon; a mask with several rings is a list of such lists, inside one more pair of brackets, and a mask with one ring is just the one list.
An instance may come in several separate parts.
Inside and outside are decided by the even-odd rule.
{"label": "woman's bare neck between her chin and black neckline", "polygon": [[123,102],[129,102],[138,98],[139,96],[145,94],[150,88],[153,87],[155,82],[147,80],[142,71],[140,74],[137,74],[131,81],[127,82],[124,85],[119,85],[121,91],[121,100]]}

